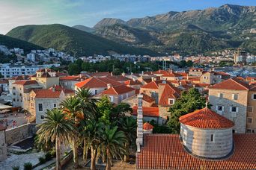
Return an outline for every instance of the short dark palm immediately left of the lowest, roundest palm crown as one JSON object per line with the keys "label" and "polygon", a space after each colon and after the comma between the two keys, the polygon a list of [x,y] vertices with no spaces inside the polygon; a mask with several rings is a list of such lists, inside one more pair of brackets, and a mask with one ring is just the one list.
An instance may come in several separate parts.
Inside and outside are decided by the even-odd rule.
{"label": "short dark palm immediately left of the lowest, roundest palm crown", "polygon": [[103,123],[94,119],[83,120],[80,131],[82,139],[84,139],[84,162],[87,159],[87,151],[91,148],[91,169],[96,169],[97,147],[100,144],[100,131],[102,131]]}

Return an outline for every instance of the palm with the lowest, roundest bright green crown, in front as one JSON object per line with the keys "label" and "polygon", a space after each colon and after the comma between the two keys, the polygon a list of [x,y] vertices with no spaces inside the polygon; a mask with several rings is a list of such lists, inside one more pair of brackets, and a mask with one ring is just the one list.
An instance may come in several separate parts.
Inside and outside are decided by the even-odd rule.
{"label": "palm with the lowest, roundest bright green crown, in front", "polygon": [[127,142],[127,137],[123,131],[118,130],[118,127],[106,126],[105,130],[100,131],[100,145],[98,146],[103,154],[106,152],[107,165],[106,169],[110,170],[112,158],[121,158],[122,154],[127,153],[124,143]]}

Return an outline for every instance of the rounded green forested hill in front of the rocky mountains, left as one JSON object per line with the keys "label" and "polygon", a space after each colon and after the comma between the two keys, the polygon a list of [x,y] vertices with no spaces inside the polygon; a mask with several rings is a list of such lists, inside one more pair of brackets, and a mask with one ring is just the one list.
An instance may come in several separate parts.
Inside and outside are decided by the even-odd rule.
{"label": "rounded green forested hill in front of the rocky mountains, left", "polygon": [[133,48],[106,40],[94,34],[65,25],[25,25],[13,28],[7,36],[32,42],[44,48],[55,48],[76,57],[93,54],[156,54],[143,48]]}

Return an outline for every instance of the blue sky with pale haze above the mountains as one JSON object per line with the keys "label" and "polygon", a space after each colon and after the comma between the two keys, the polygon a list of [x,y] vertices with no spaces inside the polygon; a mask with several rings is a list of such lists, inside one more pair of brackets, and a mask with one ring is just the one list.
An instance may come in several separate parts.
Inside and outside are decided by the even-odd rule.
{"label": "blue sky with pale haze above the mountains", "polygon": [[0,0],[0,34],[20,25],[59,23],[93,27],[103,18],[127,21],[222,4],[256,6],[256,0]]}

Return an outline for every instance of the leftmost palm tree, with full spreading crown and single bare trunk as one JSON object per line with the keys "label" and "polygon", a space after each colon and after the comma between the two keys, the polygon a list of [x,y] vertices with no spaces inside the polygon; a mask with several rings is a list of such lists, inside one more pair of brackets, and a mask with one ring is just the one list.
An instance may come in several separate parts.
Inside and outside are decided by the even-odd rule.
{"label": "leftmost palm tree, with full spreading crown and single bare trunk", "polygon": [[73,134],[73,125],[70,119],[61,110],[47,110],[45,121],[37,125],[38,142],[46,143],[48,139],[55,141],[56,169],[61,169],[61,143],[67,145],[69,137]]}

